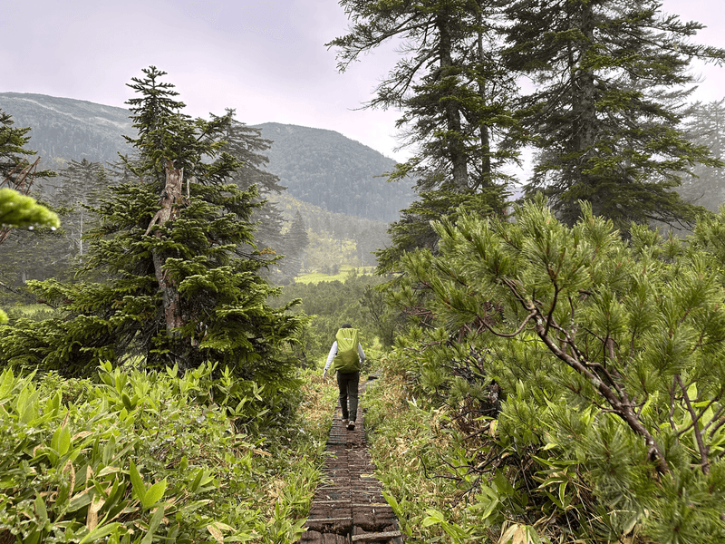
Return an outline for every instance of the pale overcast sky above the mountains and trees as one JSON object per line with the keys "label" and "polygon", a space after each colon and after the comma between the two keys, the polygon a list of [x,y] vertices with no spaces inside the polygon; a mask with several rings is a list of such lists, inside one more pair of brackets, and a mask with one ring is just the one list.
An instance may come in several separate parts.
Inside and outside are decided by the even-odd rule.
{"label": "pale overcast sky above the mountains and trees", "polygon": [[[682,20],[707,24],[697,43],[725,47],[722,0],[663,0]],[[0,0],[0,92],[37,92],[111,106],[150,64],[169,73],[187,113],[227,107],[248,124],[329,129],[403,160],[398,113],[361,110],[396,58],[392,47],[338,73],[324,44],[345,34],[335,0]],[[725,68],[696,98],[725,96]]]}

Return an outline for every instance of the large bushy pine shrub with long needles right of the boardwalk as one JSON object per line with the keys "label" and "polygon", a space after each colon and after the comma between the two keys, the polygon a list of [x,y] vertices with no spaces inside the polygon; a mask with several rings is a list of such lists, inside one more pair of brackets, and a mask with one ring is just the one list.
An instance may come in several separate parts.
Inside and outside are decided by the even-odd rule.
{"label": "large bushy pine shrub with long needles right of the boardwalk", "polygon": [[725,211],[688,243],[625,243],[582,209],[573,228],[542,199],[515,223],[461,214],[436,223],[438,256],[402,258],[421,317],[393,360],[453,428],[425,454],[451,499],[421,521],[459,542],[720,541]]}

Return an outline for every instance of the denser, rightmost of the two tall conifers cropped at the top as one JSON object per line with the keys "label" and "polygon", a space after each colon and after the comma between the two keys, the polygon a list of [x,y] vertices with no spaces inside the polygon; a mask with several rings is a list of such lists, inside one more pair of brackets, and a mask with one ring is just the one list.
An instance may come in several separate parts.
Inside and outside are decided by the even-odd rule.
{"label": "denser, rightmost of the two tall conifers cropped at the top", "polygon": [[579,200],[617,228],[691,221],[672,189],[706,148],[681,128],[691,58],[725,51],[691,44],[701,29],[663,15],[656,0],[518,0],[506,8],[507,68],[536,83],[523,105],[539,155],[527,193],[543,190],[572,225]]}

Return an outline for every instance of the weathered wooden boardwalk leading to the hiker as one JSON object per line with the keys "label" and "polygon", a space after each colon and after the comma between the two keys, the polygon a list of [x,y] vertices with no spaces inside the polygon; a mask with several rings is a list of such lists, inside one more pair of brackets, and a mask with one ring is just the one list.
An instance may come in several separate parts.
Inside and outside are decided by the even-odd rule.
{"label": "weathered wooden boardwalk leading to the hiker", "polygon": [[[360,395],[367,383],[360,384]],[[398,520],[373,477],[375,467],[365,441],[362,409],[354,431],[343,427],[340,407],[334,414],[322,483],[314,493],[301,544],[401,544]]]}

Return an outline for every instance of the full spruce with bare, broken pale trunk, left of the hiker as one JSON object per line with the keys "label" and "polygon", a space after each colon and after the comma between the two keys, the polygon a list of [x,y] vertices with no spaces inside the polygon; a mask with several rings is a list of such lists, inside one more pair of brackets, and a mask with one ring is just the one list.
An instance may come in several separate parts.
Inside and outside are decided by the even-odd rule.
{"label": "full spruce with bare, broken pale trunk, left of the hiker", "polygon": [[138,159],[124,160],[136,179],[109,188],[86,237],[82,273],[108,280],[30,282],[65,317],[17,323],[0,338],[0,354],[66,374],[140,355],[148,366],[211,360],[260,381],[281,378],[292,364],[282,348],[301,318],[267,305],[276,290],[259,276],[264,263],[242,248],[254,243],[258,193],[227,183],[241,166],[220,139],[231,118],[192,120],[165,73],[143,73],[128,102]]}

